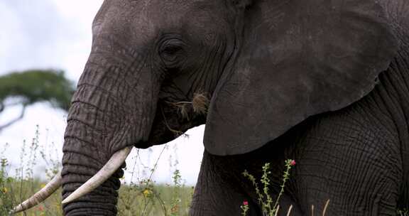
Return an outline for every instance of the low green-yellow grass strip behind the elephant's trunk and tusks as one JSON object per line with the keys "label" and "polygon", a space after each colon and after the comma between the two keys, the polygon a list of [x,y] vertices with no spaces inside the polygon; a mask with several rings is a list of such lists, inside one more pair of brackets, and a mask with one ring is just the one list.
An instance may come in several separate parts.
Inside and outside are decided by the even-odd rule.
{"label": "low green-yellow grass strip behind the elephant's trunk and tusks", "polygon": [[[38,180],[20,180],[1,178],[0,215],[8,215],[14,205],[28,198],[44,186]],[[175,197],[178,191],[178,197]],[[119,190],[118,215],[188,215],[192,198],[192,187],[175,187],[173,185],[152,185],[146,188],[141,185],[122,185]],[[54,193],[40,205],[25,213],[17,215],[62,215],[61,190]],[[177,200],[175,202],[175,200]]]}

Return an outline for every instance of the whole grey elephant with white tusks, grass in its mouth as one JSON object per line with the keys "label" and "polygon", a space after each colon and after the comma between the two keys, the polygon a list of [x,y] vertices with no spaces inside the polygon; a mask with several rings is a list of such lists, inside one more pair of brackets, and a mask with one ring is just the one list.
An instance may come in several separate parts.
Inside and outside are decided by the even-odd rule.
{"label": "whole grey elephant with white tusks, grass in its mouth", "polygon": [[263,215],[242,173],[270,163],[277,198],[287,158],[292,215],[409,207],[408,1],[105,0],[92,33],[36,202],[62,186],[65,215],[116,215],[131,148],[205,124],[190,215]]}

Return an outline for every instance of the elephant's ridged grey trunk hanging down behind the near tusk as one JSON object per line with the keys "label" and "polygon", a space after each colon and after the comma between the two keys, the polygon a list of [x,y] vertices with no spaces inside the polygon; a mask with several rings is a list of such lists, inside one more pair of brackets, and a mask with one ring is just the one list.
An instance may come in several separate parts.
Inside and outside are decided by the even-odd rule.
{"label": "elephant's ridged grey trunk hanging down behind the near tusk", "polygon": [[[112,63],[113,58],[124,58],[110,59],[101,50],[94,53],[97,54],[92,53],[89,58],[68,114],[62,149],[63,199],[98,173],[115,153],[141,147],[149,138],[156,113],[159,85],[151,73],[126,62]],[[90,193],[65,200],[65,215],[116,215],[119,178],[124,172],[121,168],[113,172]]]}

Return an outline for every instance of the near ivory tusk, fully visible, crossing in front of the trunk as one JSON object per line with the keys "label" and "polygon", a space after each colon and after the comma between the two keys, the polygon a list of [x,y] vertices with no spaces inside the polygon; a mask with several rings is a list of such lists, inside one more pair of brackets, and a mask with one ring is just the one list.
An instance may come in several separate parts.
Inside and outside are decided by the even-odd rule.
{"label": "near ivory tusk, fully visible, crossing in front of the trunk", "polygon": [[132,146],[126,147],[120,151],[116,151],[109,161],[98,171],[97,174],[89,178],[86,183],[81,185],[80,188],[77,188],[73,193],[71,193],[65,200],[62,200],[62,204],[72,202],[78,198],[86,195],[87,193],[92,192],[95,188],[98,188],[99,185],[102,185],[108,178],[114,174],[122,163],[124,163],[126,157],[131,153]]}

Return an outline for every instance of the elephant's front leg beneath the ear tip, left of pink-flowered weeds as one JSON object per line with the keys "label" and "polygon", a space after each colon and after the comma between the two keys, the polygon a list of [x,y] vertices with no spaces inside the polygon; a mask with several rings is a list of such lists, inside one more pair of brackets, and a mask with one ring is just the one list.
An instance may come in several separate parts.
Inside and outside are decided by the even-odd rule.
{"label": "elephant's front leg beneath the ear tip, left of pink-flowered weeds", "polygon": [[189,215],[241,215],[244,200],[250,207],[247,215],[261,215],[258,205],[239,187],[227,160],[205,151]]}

